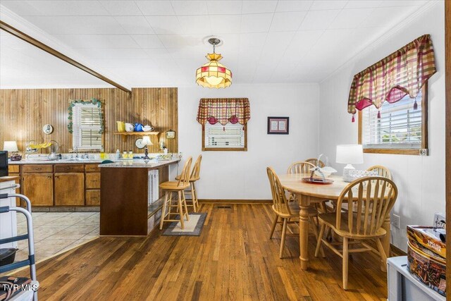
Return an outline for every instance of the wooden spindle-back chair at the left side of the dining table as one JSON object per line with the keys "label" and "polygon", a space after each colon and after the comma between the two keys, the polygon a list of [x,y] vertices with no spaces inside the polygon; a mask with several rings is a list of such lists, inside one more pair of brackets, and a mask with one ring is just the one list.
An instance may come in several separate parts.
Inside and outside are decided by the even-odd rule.
{"label": "wooden spindle-back chair at the left side of the dining table", "polygon": [[[273,238],[273,233],[276,230],[276,225],[278,223],[282,224],[282,239],[280,241],[280,251],[279,251],[279,257],[282,258],[283,254],[283,247],[285,246],[285,237],[287,235],[289,236],[298,236],[298,234],[295,233],[288,233],[287,234],[287,224],[288,223],[297,223],[299,221],[299,204],[297,202],[288,202],[287,197],[285,197],[285,190],[283,189],[283,186],[280,184],[280,180],[276,173],[274,172],[273,168],[268,167],[266,168],[266,172],[268,173],[269,183],[271,185],[271,193],[273,195],[273,206],[271,209],[273,209],[274,213],[276,214],[276,219],[274,219],[273,226],[271,228],[271,234],[269,235],[269,239]],[[311,207],[311,211],[309,209],[309,221],[311,221],[312,216],[316,216],[318,212],[316,209]],[[282,219],[282,221],[278,221],[278,219]],[[290,221],[290,219],[295,219],[295,221]],[[314,225],[314,224],[313,224]],[[319,238],[318,236],[318,229],[314,225],[314,234],[316,239]],[[322,250],[321,250],[322,251]]]}

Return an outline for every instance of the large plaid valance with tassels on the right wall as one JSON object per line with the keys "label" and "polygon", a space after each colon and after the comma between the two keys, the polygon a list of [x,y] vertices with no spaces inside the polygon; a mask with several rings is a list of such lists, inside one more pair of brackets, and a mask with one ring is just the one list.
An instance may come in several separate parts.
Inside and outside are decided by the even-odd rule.
{"label": "large plaid valance with tassels on the right wall", "polygon": [[410,42],[381,61],[354,75],[347,111],[354,114],[373,104],[380,108],[409,94],[415,98],[424,82],[435,73],[430,35]]}

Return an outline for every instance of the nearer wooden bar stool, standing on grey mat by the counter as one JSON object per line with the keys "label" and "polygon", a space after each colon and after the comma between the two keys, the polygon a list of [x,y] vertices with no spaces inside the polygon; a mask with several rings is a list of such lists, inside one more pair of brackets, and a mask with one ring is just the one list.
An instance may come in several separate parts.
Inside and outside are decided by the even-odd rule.
{"label": "nearer wooden bar stool, standing on grey mat by the counter", "polygon": [[[180,178],[177,181],[167,181],[160,184],[160,188],[166,191],[164,195],[163,210],[161,211],[160,230],[163,228],[163,223],[165,221],[180,221],[180,226],[182,229],[184,229],[184,217],[186,216],[187,221],[190,220],[185,199],[185,189],[190,187],[191,164],[192,157],[190,156],[185,162],[185,165],[183,165],[182,173],[180,174]],[[173,192],[176,192],[178,195],[178,199],[174,199],[176,204],[173,204]],[[172,207],[176,207],[177,211],[171,212]],[[183,211],[183,207],[185,207],[185,212]],[[179,215],[180,220],[171,219],[171,215]]]}

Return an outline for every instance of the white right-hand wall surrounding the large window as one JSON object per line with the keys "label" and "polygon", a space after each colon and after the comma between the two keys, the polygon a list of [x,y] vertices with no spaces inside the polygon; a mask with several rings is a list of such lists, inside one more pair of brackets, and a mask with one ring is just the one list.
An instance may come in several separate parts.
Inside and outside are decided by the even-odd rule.
{"label": "white right-hand wall surrounding the large window", "polygon": [[[383,59],[416,37],[431,34],[438,72],[428,82],[429,156],[365,154],[366,168],[381,164],[390,168],[399,197],[392,211],[401,216],[400,229],[393,227],[393,243],[407,250],[406,225],[431,225],[436,211],[445,212],[445,20],[444,2],[394,29],[379,42],[348,62],[320,85],[319,152],[335,161],[335,146],[357,143],[357,118],[351,123],[347,98],[353,75]],[[357,117],[357,114],[356,114]],[[342,171],[342,164],[335,164]]]}

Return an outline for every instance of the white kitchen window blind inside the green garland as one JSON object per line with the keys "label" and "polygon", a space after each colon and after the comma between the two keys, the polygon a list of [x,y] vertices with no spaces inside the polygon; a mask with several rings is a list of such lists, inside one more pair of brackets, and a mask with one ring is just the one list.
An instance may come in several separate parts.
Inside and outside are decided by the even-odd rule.
{"label": "white kitchen window blind inside the green garland", "polygon": [[73,107],[73,148],[101,149],[101,108],[94,104]]}

